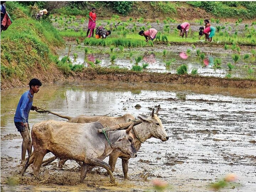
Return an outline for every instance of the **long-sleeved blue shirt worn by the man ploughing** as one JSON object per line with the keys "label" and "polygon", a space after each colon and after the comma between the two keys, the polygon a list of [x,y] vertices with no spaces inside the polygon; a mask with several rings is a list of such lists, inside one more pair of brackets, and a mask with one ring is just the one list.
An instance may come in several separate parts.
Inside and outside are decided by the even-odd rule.
{"label": "long-sleeved blue shirt worn by the man ploughing", "polygon": [[27,122],[28,123],[28,114],[31,110],[33,103],[33,95],[30,91],[26,91],[20,98],[16,113],[14,116],[14,122]]}

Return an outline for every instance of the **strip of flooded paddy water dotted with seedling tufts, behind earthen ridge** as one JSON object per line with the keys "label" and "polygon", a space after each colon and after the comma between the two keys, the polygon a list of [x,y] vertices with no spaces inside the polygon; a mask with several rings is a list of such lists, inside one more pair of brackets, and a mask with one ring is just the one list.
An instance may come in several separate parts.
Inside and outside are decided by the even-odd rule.
{"label": "strip of flooded paddy water dotted with seedling tufts, behind earthen ridge", "polygon": [[[84,64],[87,65],[87,61],[95,63],[96,59],[100,60],[98,64],[103,67],[110,67],[111,65],[119,66],[120,68],[131,69],[135,64],[135,58],[142,56],[143,60],[139,63],[142,66],[143,63],[148,63],[149,66],[146,68],[147,71],[158,72],[158,73],[176,73],[176,69],[186,64],[188,66],[188,73],[191,73],[192,69],[197,69],[198,74],[202,76],[215,76],[225,77],[226,74],[231,74],[232,77],[247,78],[249,76],[256,77],[256,62],[255,58],[251,57],[247,60],[240,59],[234,64],[232,50],[225,50],[223,47],[202,47],[197,46],[193,49],[190,45],[183,46],[160,46],[155,45],[154,47],[147,48],[124,48],[123,52],[120,49],[114,48],[113,52],[108,47],[97,47],[96,53],[84,53],[84,45],[78,45],[74,41],[67,41],[66,48],[58,50],[59,59],[62,59],[68,54],[69,44],[71,43],[70,58],[73,64]],[[91,50],[95,50],[95,47],[90,47]],[[190,53],[186,53],[190,49]],[[200,49],[201,53],[204,53],[206,59],[204,61],[198,57],[196,50]],[[166,55],[163,55],[163,51],[166,50]],[[242,55],[250,54],[251,49],[241,50]],[[188,56],[187,59],[182,59],[179,55],[185,52]],[[78,54],[78,58],[74,59],[74,53]],[[133,53],[132,57],[129,54]],[[114,62],[111,62],[111,55],[116,55],[117,58]],[[221,68],[214,68],[214,59],[221,59]],[[172,61],[169,67],[166,67],[166,62]],[[227,63],[235,65],[232,71],[229,71]],[[254,73],[248,73],[248,66],[254,69]]]}

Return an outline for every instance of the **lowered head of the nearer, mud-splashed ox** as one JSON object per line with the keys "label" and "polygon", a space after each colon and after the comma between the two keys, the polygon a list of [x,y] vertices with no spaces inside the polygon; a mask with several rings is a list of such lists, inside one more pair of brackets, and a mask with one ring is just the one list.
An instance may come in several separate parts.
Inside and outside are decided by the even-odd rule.
{"label": "lowered head of the nearer, mud-splashed ox", "polygon": [[132,127],[130,126],[126,130],[120,130],[121,136],[114,143],[115,150],[126,155],[129,155],[131,158],[137,157],[137,151],[133,143],[133,134],[130,132]]}

